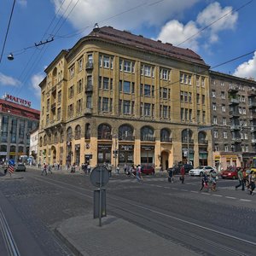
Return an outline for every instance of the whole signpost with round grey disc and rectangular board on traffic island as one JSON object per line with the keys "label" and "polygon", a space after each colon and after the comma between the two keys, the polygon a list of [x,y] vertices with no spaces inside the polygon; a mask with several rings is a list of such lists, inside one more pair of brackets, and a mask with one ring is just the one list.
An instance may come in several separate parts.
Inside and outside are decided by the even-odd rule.
{"label": "whole signpost with round grey disc and rectangular board on traffic island", "polygon": [[106,212],[106,186],[109,180],[108,169],[104,166],[96,166],[90,172],[90,183],[98,187],[94,190],[94,218],[99,218],[99,226],[102,226],[102,217],[107,216]]}

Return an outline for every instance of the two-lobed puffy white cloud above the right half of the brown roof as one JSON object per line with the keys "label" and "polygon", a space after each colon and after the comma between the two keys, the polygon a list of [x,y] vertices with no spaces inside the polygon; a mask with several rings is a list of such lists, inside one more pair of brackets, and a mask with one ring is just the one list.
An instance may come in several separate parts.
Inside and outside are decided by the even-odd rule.
{"label": "two-lobed puffy white cloud above the right half of the brown roof", "polygon": [[[181,44],[183,48],[194,49],[196,51],[199,47],[199,39],[205,38],[204,47],[210,49],[210,44],[218,42],[218,32],[234,29],[236,26],[238,14],[230,13],[231,10],[231,7],[222,9],[217,2],[209,4],[206,9],[203,9],[197,15],[195,21],[190,20],[186,25],[183,25],[177,20],[168,21],[165,26],[162,26],[158,39],[174,45]],[[228,13],[230,14],[224,16]],[[222,16],[224,18],[218,20]],[[215,20],[218,21],[210,26]],[[206,26],[209,27],[204,29]],[[204,30],[200,32],[202,29]]]}

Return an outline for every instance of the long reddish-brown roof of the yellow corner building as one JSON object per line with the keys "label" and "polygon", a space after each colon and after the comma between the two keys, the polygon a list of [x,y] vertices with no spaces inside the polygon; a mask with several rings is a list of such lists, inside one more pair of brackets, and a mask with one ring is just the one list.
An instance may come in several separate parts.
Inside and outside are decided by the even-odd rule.
{"label": "long reddish-brown roof of the yellow corner building", "polygon": [[181,60],[191,61],[204,66],[207,65],[201,56],[197,55],[191,49],[183,49],[173,46],[170,43],[163,44],[160,40],[154,41],[152,39],[144,38],[141,35],[137,36],[131,32],[114,29],[112,26],[95,28],[85,38],[102,38],[115,43],[133,46],[137,49],[154,52],[159,55],[166,55]]}

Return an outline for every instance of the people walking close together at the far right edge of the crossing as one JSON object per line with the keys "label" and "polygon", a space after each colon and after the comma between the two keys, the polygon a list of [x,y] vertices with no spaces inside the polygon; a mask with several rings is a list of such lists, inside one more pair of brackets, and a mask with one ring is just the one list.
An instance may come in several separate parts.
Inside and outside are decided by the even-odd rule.
{"label": "people walking close together at the far right edge of the crossing", "polygon": [[255,177],[253,171],[251,171],[248,175],[245,169],[240,169],[237,172],[239,183],[236,185],[236,189],[241,187],[241,190],[245,190],[247,187],[247,192],[249,195],[253,195],[253,190],[255,189]]}

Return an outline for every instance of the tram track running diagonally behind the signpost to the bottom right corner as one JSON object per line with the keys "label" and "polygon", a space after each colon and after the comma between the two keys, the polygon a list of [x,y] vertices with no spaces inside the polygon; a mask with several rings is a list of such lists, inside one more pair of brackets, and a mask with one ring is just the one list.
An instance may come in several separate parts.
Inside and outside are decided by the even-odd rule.
{"label": "tram track running diagonally behind the signpost to the bottom right corner", "polygon": [[[93,199],[91,189],[77,187],[70,183],[53,180],[49,177],[35,178],[44,183],[57,186],[66,191],[72,191],[79,196],[86,196],[88,200]],[[218,227],[199,224],[185,217],[178,217],[175,214],[166,212],[154,206],[143,205],[142,203],[121,198],[116,195],[107,195],[108,212],[119,218],[124,218],[133,224],[141,226],[145,230],[152,231],[159,236],[189,247],[197,253],[207,255],[254,255],[256,241],[247,237],[239,237],[239,234],[230,234],[229,230],[218,230]]]}

